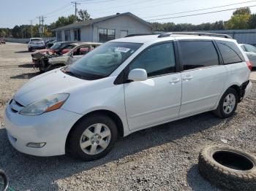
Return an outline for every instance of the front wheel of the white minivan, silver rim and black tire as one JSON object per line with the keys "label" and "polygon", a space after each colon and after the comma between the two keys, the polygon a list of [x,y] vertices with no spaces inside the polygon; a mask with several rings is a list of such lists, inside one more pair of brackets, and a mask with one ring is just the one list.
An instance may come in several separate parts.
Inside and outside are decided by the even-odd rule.
{"label": "front wheel of the white minivan, silver rim and black tire", "polygon": [[[97,130],[97,127],[99,127],[97,125],[102,126],[102,133]],[[105,135],[110,133],[110,136],[104,137],[104,133]],[[89,136],[87,136],[88,134]],[[116,143],[117,137],[116,123],[110,117],[93,114],[89,117],[83,117],[75,124],[69,135],[67,152],[80,160],[97,160],[110,152]],[[86,144],[86,147],[82,149],[81,143]],[[95,152],[93,152],[94,150]]]}

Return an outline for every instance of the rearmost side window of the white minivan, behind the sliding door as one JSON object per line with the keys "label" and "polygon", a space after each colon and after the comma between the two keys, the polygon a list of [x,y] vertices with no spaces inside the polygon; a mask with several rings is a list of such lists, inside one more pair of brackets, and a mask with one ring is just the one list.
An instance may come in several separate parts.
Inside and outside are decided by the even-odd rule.
{"label": "rearmost side window of the white minivan, behind the sliding door", "polygon": [[217,45],[225,64],[244,61],[244,56],[234,42],[217,41]]}

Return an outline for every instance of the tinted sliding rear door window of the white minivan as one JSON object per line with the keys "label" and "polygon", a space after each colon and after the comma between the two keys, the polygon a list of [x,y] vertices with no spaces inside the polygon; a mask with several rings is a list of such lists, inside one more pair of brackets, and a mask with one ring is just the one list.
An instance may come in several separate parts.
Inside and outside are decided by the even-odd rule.
{"label": "tinted sliding rear door window of the white minivan", "polygon": [[217,50],[211,41],[181,41],[183,69],[215,66],[219,64]]}

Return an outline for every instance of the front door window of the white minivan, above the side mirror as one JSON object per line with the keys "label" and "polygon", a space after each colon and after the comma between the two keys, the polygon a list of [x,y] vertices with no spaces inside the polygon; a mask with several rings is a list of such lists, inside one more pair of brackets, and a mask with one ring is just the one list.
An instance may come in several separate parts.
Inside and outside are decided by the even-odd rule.
{"label": "front door window of the white minivan, above the side mirror", "polygon": [[168,74],[175,71],[173,42],[157,44],[142,52],[129,66],[132,69],[145,69],[148,77]]}

